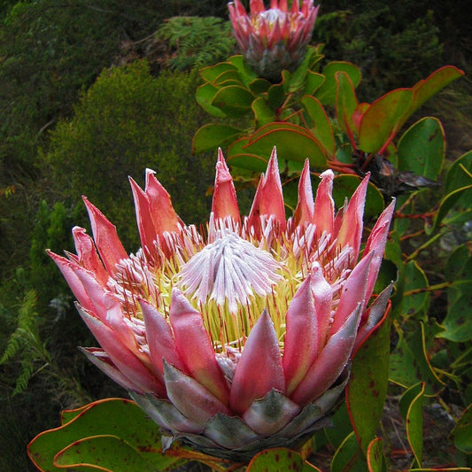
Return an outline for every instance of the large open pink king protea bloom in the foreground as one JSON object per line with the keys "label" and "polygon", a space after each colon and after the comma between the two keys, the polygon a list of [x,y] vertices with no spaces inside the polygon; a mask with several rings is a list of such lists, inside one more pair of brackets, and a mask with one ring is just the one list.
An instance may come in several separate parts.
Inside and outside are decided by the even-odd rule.
{"label": "large open pink king protea bloom in the foreground", "polygon": [[335,214],[333,177],[321,174],[313,202],[306,163],[286,220],[274,150],[242,219],[220,151],[203,231],[182,223],[148,170],[145,190],[131,180],[135,255],[87,199],[95,243],[74,228],[77,255],[50,253],[101,345],[83,351],[166,443],[244,461],[326,425],[352,350],[385,310],[388,294],[368,300],[393,212],[392,203],[359,257],[368,178]]}

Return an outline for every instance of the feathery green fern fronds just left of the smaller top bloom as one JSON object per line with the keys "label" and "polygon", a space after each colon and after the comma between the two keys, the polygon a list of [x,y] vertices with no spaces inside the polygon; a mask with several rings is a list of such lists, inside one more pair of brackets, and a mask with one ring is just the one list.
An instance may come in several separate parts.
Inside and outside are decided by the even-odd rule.
{"label": "feathery green fern fronds just left of the smaller top bloom", "polygon": [[214,17],[174,17],[156,32],[166,43],[166,65],[174,70],[213,66],[235,53],[231,23]]}

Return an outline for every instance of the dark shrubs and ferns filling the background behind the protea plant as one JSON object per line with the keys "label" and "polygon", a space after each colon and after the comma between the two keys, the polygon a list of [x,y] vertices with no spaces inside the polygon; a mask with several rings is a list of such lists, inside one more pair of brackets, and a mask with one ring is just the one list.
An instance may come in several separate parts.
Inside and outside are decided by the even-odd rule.
{"label": "dark shrubs and ferns filling the background behind the protea plant", "polygon": [[[247,3],[247,2],[246,2]],[[208,117],[197,69],[236,52],[217,0],[0,2],[0,469],[33,470],[26,445],[58,411],[124,392],[89,366],[93,344],[44,249],[72,249],[87,226],[81,194],[137,248],[127,176],[159,175],[184,221],[208,212],[215,153],[194,157]],[[174,17],[187,17],[174,18]],[[321,5],[314,43],[363,73],[360,96],[411,86],[438,66],[472,73],[472,5],[337,0]],[[205,33],[205,35],[204,35]],[[202,40],[202,38],[204,38]],[[211,46],[211,47],[209,47]],[[472,87],[461,80],[429,105],[448,157],[472,148]],[[468,236],[466,236],[467,238]]]}

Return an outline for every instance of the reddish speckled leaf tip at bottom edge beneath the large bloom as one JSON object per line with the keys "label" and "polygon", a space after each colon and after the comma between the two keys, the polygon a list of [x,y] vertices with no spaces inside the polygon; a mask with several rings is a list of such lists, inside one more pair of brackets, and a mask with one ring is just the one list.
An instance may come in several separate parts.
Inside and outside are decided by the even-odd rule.
{"label": "reddish speckled leaf tip at bottom edge beneath the large bloom", "polygon": [[283,447],[267,449],[256,454],[246,468],[246,472],[321,472],[303,459],[296,451]]}

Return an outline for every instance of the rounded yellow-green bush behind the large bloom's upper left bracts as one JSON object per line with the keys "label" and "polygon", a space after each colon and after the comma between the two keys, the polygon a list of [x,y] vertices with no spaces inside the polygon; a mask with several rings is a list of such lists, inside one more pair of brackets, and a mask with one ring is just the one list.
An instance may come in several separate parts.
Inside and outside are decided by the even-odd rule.
{"label": "rounded yellow-green bush behind the large bloom's upper left bracts", "polygon": [[78,202],[87,195],[117,225],[129,251],[138,242],[128,175],[143,185],[146,167],[156,171],[184,221],[207,217],[215,153],[190,154],[204,115],[193,97],[196,87],[197,73],[155,79],[145,60],[106,70],[81,97],[74,118],[50,136],[44,159],[58,197]]}

